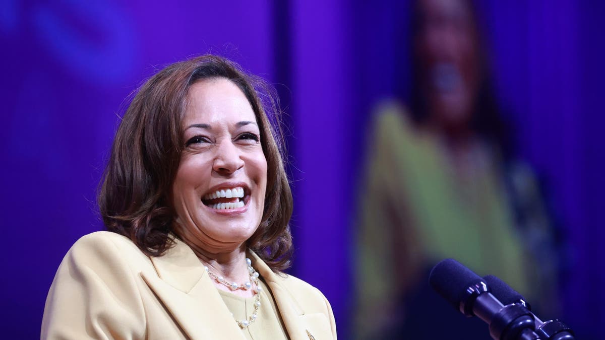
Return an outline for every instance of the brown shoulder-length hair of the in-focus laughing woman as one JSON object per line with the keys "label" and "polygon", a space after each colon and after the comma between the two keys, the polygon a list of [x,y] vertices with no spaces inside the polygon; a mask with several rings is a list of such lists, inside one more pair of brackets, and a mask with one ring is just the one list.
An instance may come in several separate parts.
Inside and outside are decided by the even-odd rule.
{"label": "brown shoulder-length hair of the in-focus laughing woman", "polygon": [[172,246],[172,183],[185,145],[181,136],[188,90],[195,82],[217,77],[234,82],[250,102],[267,159],[263,218],[247,245],[272,270],[284,270],[292,256],[288,223],[293,203],[277,96],[260,77],[223,57],[206,54],[171,64],[140,87],[114,139],[99,190],[100,214],[108,230],[130,238],[149,256]]}

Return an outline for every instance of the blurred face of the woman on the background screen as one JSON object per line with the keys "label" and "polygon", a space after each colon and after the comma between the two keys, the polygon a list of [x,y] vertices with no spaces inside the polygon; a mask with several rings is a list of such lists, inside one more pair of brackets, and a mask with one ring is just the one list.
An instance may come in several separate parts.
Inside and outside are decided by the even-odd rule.
{"label": "blurred face of the woman on the background screen", "polygon": [[422,62],[422,86],[433,118],[463,125],[473,112],[479,80],[479,46],[466,1],[420,0],[421,27],[416,36]]}

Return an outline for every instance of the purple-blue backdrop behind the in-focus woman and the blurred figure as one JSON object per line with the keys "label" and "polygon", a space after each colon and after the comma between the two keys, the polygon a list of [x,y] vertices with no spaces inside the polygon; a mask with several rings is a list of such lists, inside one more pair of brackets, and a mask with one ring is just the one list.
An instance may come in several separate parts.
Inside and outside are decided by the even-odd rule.
{"label": "purple-blue backdrop behind the in-focus woman and the blurred figure", "polygon": [[[400,85],[395,74],[406,74],[407,7],[0,2],[3,337],[39,337],[60,260],[77,238],[102,229],[95,191],[125,98],[162,65],[211,51],[280,92],[296,209],[291,272],[325,293],[347,339],[355,268],[348,255],[369,112]],[[546,179],[569,243],[564,312],[544,318],[563,319],[578,338],[603,338],[605,5],[483,0],[480,8],[499,99],[523,155]]]}

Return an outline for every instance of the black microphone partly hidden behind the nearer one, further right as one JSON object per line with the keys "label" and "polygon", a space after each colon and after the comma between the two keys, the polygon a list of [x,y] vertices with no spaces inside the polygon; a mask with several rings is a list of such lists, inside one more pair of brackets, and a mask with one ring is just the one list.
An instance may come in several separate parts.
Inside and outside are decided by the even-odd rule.
{"label": "black microphone partly hidden behind the nearer one, further right", "polygon": [[[483,280],[492,290],[492,294],[502,301],[503,304],[520,303],[523,304],[528,310],[531,310],[528,302],[525,298],[512,289],[504,281],[497,278],[494,275],[483,276]],[[535,320],[535,333],[540,336],[540,339],[552,339],[552,340],[572,340],[574,338],[574,332],[567,327],[563,322],[555,319],[549,321],[541,321],[537,316],[532,313]]]}

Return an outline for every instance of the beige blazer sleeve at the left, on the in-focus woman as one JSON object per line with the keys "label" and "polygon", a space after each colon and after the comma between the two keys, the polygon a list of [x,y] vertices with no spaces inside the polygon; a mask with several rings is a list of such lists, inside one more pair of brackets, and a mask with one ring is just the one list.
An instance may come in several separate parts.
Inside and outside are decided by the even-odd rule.
{"label": "beige blazer sleeve at the left, on the in-focus woman", "polygon": [[41,339],[145,338],[145,312],[127,252],[108,234],[82,237],[65,255],[48,292]]}

